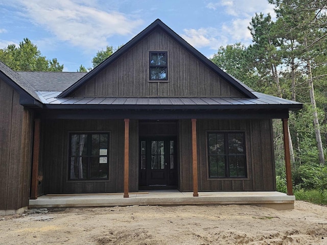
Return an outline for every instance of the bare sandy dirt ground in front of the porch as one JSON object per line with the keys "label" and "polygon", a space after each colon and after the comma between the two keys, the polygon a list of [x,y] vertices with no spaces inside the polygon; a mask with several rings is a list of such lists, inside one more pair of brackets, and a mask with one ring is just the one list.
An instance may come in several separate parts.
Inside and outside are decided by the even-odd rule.
{"label": "bare sandy dirt ground in front of the porch", "polygon": [[0,217],[0,244],[327,244],[327,207],[249,205],[32,209]]}

